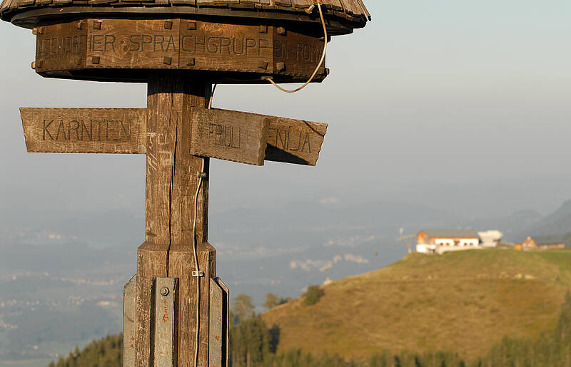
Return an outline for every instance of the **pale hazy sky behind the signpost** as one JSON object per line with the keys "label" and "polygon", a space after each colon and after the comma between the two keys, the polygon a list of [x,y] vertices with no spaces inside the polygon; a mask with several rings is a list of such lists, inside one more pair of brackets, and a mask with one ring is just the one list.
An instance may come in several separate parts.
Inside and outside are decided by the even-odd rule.
{"label": "pale hazy sky behind the signpost", "polygon": [[[214,106],[329,123],[317,167],[216,161],[211,213],[338,197],[474,216],[571,198],[569,0],[369,0],[333,38],[330,76],[296,95],[220,86]],[[0,24],[0,220],[12,212],[143,214],[143,156],[25,153],[19,107],[145,107],[143,84],[58,81],[30,68],[31,31]]]}

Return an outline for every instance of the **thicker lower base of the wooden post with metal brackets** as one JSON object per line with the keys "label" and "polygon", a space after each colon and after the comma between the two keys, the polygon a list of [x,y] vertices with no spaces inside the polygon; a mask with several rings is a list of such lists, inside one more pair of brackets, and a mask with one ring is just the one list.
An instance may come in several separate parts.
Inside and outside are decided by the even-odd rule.
{"label": "thicker lower base of the wooden post with metal brackets", "polygon": [[[171,245],[168,252],[165,246],[144,243],[138,248],[137,276],[126,285],[125,316],[123,334],[129,340],[123,344],[125,367],[133,366],[194,366],[196,352],[196,315],[197,297],[199,297],[198,314],[198,365],[225,366],[227,329],[228,329],[228,289],[216,278],[216,249],[211,244],[198,244],[198,267],[201,276],[194,272],[194,254],[192,246]],[[168,262],[168,264],[167,264]],[[152,302],[153,283],[156,278],[176,279],[176,305],[174,307],[175,328],[172,336],[173,358],[171,364],[157,365],[158,346],[153,344],[156,338],[151,337],[157,329],[156,324],[170,320],[153,317]],[[199,288],[197,294],[197,279]],[[128,289],[135,290],[129,294]],[[136,301],[131,301],[131,297]],[[131,314],[135,313],[127,306],[136,304],[135,322],[131,322]],[[134,331],[131,331],[134,329]],[[132,334],[134,337],[131,337]],[[167,337],[168,338],[168,337]],[[134,340],[134,343],[133,343]],[[211,345],[210,341],[216,343]],[[132,357],[131,357],[132,356]],[[134,364],[133,359],[135,360]],[[162,361],[162,360],[161,360]]]}

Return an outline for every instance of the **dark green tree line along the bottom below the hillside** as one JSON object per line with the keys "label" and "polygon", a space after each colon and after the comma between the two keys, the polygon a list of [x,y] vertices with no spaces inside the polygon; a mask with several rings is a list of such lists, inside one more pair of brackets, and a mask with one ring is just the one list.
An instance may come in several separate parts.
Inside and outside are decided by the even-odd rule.
{"label": "dark green tree line along the bottom below the hillside", "polygon": [[[316,293],[315,293],[316,292]],[[318,302],[322,291],[308,289],[306,305]],[[317,299],[317,301],[315,301]],[[309,301],[307,301],[309,300]],[[266,296],[267,309],[289,299]],[[228,367],[571,367],[571,293],[567,292],[555,330],[537,339],[504,338],[486,356],[464,361],[457,353],[380,351],[361,361],[348,361],[337,355],[313,355],[303,351],[277,353],[280,329],[268,327],[256,314],[252,299],[241,294],[233,299],[230,320],[230,361]],[[49,367],[122,367],[122,336],[107,336],[79,348]]]}

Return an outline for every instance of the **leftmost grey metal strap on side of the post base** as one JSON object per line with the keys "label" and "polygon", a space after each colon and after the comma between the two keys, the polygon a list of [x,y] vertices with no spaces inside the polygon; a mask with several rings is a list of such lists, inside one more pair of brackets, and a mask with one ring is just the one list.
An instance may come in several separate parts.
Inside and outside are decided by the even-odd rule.
{"label": "leftmost grey metal strap on side of the post base", "polygon": [[123,367],[135,366],[135,296],[137,276],[123,287]]}

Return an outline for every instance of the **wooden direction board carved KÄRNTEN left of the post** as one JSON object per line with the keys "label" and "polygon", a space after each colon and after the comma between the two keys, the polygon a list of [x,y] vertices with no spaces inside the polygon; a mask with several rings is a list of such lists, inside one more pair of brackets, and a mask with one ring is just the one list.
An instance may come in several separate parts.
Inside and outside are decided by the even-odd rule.
{"label": "wooden direction board carved K\u00c4RNTEN left of the post", "polygon": [[20,108],[28,152],[146,153],[143,108]]}

